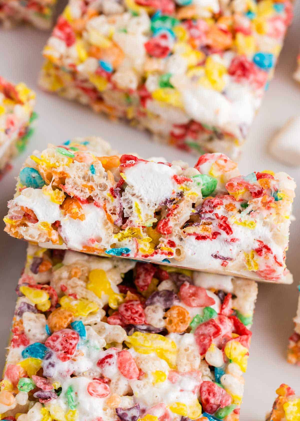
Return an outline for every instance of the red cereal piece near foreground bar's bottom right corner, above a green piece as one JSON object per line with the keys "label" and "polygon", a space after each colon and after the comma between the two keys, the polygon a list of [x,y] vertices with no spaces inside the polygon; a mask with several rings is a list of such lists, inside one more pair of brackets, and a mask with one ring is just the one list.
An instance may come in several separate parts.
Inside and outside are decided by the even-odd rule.
{"label": "red cereal piece near foreground bar's bottom right corner, above a green piece", "polygon": [[201,383],[200,398],[203,411],[208,414],[214,414],[219,408],[225,408],[232,402],[232,397],[212,381]]}

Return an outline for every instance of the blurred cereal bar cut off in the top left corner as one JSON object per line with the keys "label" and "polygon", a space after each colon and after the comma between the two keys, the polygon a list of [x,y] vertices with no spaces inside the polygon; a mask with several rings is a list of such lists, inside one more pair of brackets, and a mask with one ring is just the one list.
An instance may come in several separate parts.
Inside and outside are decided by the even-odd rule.
{"label": "blurred cereal bar cut off in the top left corner", "polygon": [[50,29],[56,0],[0,0],[0,24],[11,28],[28,22],[38,29]]}

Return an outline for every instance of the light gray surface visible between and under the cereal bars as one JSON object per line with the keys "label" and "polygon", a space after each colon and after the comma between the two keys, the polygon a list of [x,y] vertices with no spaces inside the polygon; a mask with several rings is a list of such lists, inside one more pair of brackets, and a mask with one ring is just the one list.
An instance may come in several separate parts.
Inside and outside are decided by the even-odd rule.
{"label": "light gray surface visible between and under the cereal bars", "polygon": [[[292,80],[295,69],[298,43],[300,42],[300,4],[289,29],[284,50],[276,69],[276,76],[263,101],[255,124],[245,145],[239,168],[242,173],[272,169],[287,171],[300,184],[300,169],[288,168],[271,159],[266,152],[266,141],[285,121],[300,114],[300,85]],[[11,32],[0,31],[0,75],[13,82],[24,81],[37,92],[36,111],[39,114],[37,128],[25,154],[13,162],[13,170],[0,182],[0,217],[6,214],[6,202],[13,195],[18,169],[25,155],[33,149],[44,149],[48,142],[59,144],[74,136],[100,135],[111,141],[120,152],[138,152],[144,157],[165,156],[178,159],[179,152],[169,147],[154,144],[145,133],[134,131],[123,124],[112,124],[89,109],[56,96],[43,93],[36,80],[42,64],[42,50],[48,33],[29,27],[20,27]],[[183,160],[194,164],[195,157],[181,154]],[[297,192],[296,192],[297,193]],[[260,284],[253,325],[253,340],[250,348],[248,370],[245,375],[245,395],[241,410],[242,421],[263,421],[271,408],[275,389],[285,382],[298,388],[300,393],[300,367],[285,361],[288,337],[292,332],[292,317],[295,316],[299,270],[299,197],[295,200],[294,214],[298,221],[292,224],[291,241],[287,253],[287,265],[294,274],[293,285]],[[1,221],[0,224],[4,226]],[[0,294],[0,338],[5,346],[13,309],[14,288],[24,266],[26,244],[0,231],[1,294]],[[0,347],[0,365],[5,360],[5,350]]]}

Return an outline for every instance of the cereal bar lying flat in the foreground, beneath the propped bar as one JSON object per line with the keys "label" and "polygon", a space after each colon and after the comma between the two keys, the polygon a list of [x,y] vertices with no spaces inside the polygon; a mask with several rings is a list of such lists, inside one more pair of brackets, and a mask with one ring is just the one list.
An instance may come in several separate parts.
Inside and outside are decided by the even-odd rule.
{"label": "cereal bar lying flat in the foreground, beneath the propped bar", "polygon": [[1,419],[238,421],[257,284],[29,245]]}

